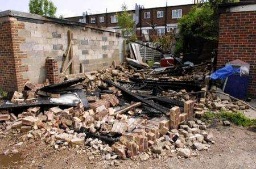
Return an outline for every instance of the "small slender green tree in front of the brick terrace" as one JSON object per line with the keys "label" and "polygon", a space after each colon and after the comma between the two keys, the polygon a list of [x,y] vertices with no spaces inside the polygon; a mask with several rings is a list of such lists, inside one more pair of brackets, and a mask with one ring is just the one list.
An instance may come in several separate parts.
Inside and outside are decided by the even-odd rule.
{"label": "small slender green tree in front of the brick terrace", "polygon": [[137,39],[135,35],[135,22],[133,20],[133,13],[127,11],[127,6],[123,3],[122,12],[117,14],[118,16],[118,26],[122,29],[122,35],[127,39],[135,40]]}

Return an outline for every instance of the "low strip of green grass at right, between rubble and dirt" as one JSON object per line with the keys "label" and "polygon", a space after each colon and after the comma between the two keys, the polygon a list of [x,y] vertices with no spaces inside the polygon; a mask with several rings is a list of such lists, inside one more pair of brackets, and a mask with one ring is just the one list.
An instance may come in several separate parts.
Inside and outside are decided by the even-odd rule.
{"label": "low strip of green grass at right, between rubble and dirt", "polygon": [[233,122],[233,124],[240,125],[240,126],[256,126],[256,119],[249,119],[243,115],[241,112],[206,112],[201,120],[213,122],[214,120],[219,119],[221,121],[228,120]]}

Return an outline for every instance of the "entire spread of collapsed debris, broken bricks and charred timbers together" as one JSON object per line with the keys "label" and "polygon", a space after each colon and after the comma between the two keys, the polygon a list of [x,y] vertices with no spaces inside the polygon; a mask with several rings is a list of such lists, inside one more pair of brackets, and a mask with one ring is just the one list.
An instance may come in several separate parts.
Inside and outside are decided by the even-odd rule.
{"label": "entire spread of collapsed debris, broken bricks and charred timbers together", "polygon": [[[231,99],[221,100],[212,93],[206,98],[188,95],[188,91],[204,87],[204,77],[209,71],[201,70],[204,69],[172,77],[119,65],[76,77],[68,75],[68,81],[59,86],[26,83],[22,93],[15,91],[9,96],[10,100],[5,102],[9,107],[0,105],[0,137],[9,133],[21,136],[14,147],[33,141],[45,142],[56,150],[85,147],[91,161],[94,157],[147,160],[171,154],[189,158],[214,146],[213,135],[206,131],[207,124],[199,120],[205,112],[248,108]],[[133,78],[137,80],[132,81]],[[122,86],[122,90],[105,79]],[[140,83],[139,79],[145,81]],[[164,86],[162,81],[168,85]],[[69,96],[72,102],[65,104],[61,100],[63,94],[81,89],[86,97]],[[173,96],[147,99],[166,95]],[[46,102],[46,98],[50,101]],[[10,108],[10,104],[15,106]],[[224,125],[230,122],[224,121]],[[17,151],[8,149],[3,154]],[[118,161],[115,163],[118,165]]]}

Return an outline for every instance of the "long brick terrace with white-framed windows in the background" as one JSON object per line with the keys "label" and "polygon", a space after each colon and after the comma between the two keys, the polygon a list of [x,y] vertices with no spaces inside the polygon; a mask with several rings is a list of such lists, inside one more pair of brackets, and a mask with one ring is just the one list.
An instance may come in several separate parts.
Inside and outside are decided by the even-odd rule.
{"label": "long brick terrace with white-framed windows in the background", "polygon": [[[137,23],[137,36],[143,34],[162,35],[170,32],[171,29],[177,32],[177,19],[188,14],[194,4],[179,5],[179,6],[165,6],[154,7],[150,9],[143,9],[143,7],[136,5],[135,10],[129,12],[133,13],[134,21]],[[121,12],[105,12],[102,14],[93,14],[84,16],[75,16],[65,18],[77,22],[84,22],[96,27],[109,27],[118,29],[117,14]],[[152,28],[154,26],[154,28]]]}

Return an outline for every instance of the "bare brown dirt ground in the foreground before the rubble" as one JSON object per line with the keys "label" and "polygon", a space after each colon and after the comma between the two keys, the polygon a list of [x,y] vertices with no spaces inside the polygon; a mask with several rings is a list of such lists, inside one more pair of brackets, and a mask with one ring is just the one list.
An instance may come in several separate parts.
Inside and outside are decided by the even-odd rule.
{"label": "bare brown dirt ground in the foreground before the rubble", "polygon": [[[76,148],[53,150],[42,142],[25,142],[22,146],[13,146],[17,134],[8,134],[0,140],[0,152],[17,149],[15,155],[0,155],[0,168],[256,168],[255,130],[238,126],[217,125],[208,129],[214,141],[211,150],[197,152],[191,158],[177,157],[176,153],[161,158],[127,160],[102,160],[96,157],[89,161],[88,149]],[[114,161],[119,166],[114,166]]]}

